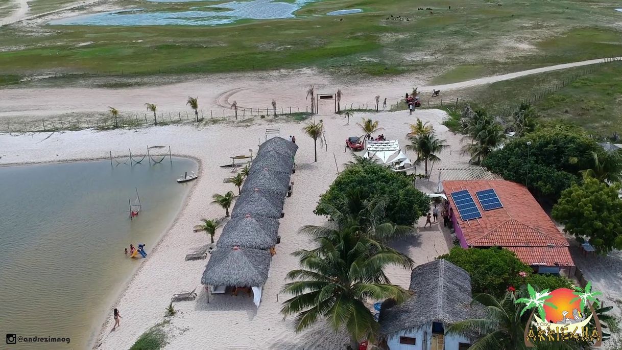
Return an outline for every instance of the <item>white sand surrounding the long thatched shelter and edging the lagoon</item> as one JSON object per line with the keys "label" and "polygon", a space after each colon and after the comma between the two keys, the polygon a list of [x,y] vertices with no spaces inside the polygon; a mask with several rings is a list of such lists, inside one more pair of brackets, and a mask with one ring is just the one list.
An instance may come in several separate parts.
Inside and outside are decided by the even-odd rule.
{"label": "white sand surrounding the long thatched shelter and edging the lagoon", "polygon": [[[417,111],[416,115],[424,121],[431,121],[439,137],[446,139],[451,146],[439,154],[442,162],[435,164],[435,169],[443,164],[464,164],[466,159],[458,151],[460,136],[453,135],[440,125],[445,113],[425,110]],[[174,293],[194,288],[198,291],[197,300],[175,303],[180,313],[171,318],[172,323],[167,328],[173,335],[167,349],[338,349],[348,343],[348,338],[327,330],[321,323],[309,331],[295,334],[292,319],[283,321],[279,314],[281,302],[287,296],[279,294],[279,302],[276,298],[285,283],[285,274],[298,267],[297,259],[290,253],[313,247],[307,237],[297,234],[297,230],[302,225],[321,225],[325,222],[325,218],[313,215],[313,208],[318,196],[337,176],[335,158],[340,170],[343,163],[351,160],[350,153],[344,152],[343,144],[348,136],[361,135],[355,124],[361,116],[364,115],[357,113],[350,125],[345,125],[346,120],[341,116],[322,117],[328,151],[318,149],[317,163],[313,163],[313,140],[303,135],[302,123],[270,125],[280,127],[284,138],[295,135],[300,149],[296,156],[297,172],[292,175],[294,195],[285,201],[285,217],[281,219],[279,229],[282,241],[276,247],[277,255],[272,260],[270,277],[259,308],[253,305],[251,298],[242,295],[215,295],[207,303],[207,295],[200,284],[207,260],[186,262],[184,257],[209,242],[206,234],[192,232],[193,225],[202,218],[216,218],[224,214],[222,209],[210,204],[211,195],[234,189],[231,184],[223,183],[225,177],[231,176],[230,171],[220,169],[218,165],[228,163],[228,156],[248,153],[249,148],[256,151],[259,142],[264,140],[266,121],[258,120],[248,127],[164,126],[53,135],[4,134],[0,135],[0,164],[105,158],[109,151],[126,154],[128,148],[144,149],[147,144],[170,145],[174,154],[192,156],[200,161],[200,178],[195,182],[178,219],[149,257],[143,260],[123,295],[111,305],[110,310],[117,307],[123,315],[121,327],[110,333],[113,325],[111,313],[102,315],[107,319],[100,333],[100,339],[103,339],[101,349],[128,349],[144,331],[164,319],[164,309]],[[369,116],[380,121],[384,128],[381,132],[386,138],[400,140],[402,146],[406,143],[405,124],[415,121],[415,116],[409,116],[406,111]],[[408,154],[414,158],[414,154]],[[437,176],[437,171],[434,171],[433,180],[420,181],[420,185],[434,187]],[[423,224],[424,221],[420,220],[419,225]],[[216,239],[219,234],[220,230]],[[394,246],[409,254],[417,264],[448,251],[447,240],[436,225],[434,229],[420,229],[420,234],[414,239],[395,242]],[[394,283],[404,287],[409,284],[410,272],[407,270],[391,268],[388,275]],[[100,343],[100,339],[96,343]]]}

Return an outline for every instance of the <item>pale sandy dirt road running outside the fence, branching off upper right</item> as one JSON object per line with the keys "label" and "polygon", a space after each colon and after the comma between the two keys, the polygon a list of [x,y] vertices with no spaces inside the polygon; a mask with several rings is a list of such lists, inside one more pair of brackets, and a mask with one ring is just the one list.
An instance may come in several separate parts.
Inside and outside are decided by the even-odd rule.
{"label": "pale sandy dirt road running outside the fence, branching off upper right", "polygon": [[[622,59],[618,57],[617,59]],[[211,75],[210,77],[188,80],[169,85],[154,85],[136,88],[15,88],[0,90],[0,120],[26,122],[40,120],[45,116],[67,113],[105,112],[108,106],[130,113],[144,113],[145,103],[156,103],[158,111],[172,113],[190,111],[186,105],[188,96],[198,97],[200,109],[222,113],[231,103],[246,108],[271,109],[274,98],[277,108],[304,111],[310,105],[307,88],[315,85],[315,93],[343,92],[341,106],[373,106],[374,97],[380,95],[381,101],[387,98],[389,104],[399,102],[404,93],[419,86],[423,92],[433,88],[452,90],[476,85],[510,80],[542,72],[569,69],[604,62],[606,59],[585,60],[569,64],[552,65],[521,72],[494,75],[491,77],[467,80],[445,85],[421,86],[417,73],[395,78],[373,78],[344,81],[310,69],[266,73],[238,73]],[[242,107],[241,107],[242,108]],[[231,112],[229,112],[231,113]],[[17,118],[17,119],[14,119]]]}

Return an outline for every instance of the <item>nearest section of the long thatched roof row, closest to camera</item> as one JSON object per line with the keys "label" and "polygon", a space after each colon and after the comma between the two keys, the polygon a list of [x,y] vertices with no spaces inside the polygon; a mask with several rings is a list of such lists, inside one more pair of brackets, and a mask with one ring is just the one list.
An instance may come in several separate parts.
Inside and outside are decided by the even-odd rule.
{"label": "nearest section of the long thatched roof row, closest to camera", "polygon": [[201,283],[211,286],[262,286],[268,278],[270,253],[253,248],[219,248],[211,253]]}

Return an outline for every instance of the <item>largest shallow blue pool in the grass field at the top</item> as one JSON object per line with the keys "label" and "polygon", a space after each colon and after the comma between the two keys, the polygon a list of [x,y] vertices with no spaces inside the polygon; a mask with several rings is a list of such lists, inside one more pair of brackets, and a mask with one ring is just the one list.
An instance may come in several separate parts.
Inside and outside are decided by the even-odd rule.
{"label": "largest shallow blue pool in the grass field at the top", "polygon": [[[151,0],[154,2],[164,2]],[[177,0],[174,2],[185,2]],[[88,14],[84,16],[68,17],[50,21],[49,24],[62,25],[91,25],[91,26],[217,26],[229,24],[241,19],[277,19],[292,18],[294,12],[309,2],[317,0],[296,0],[289,2],[274,2],[273,0],[251,0],[244,2],[226,2],[225,4],[193,7],[192,11],[182,12],[141,12],[141,9],[119,10]],[[210,11],[218,7],[225,11]],[[196,11],[201,8],[203,11]]]}

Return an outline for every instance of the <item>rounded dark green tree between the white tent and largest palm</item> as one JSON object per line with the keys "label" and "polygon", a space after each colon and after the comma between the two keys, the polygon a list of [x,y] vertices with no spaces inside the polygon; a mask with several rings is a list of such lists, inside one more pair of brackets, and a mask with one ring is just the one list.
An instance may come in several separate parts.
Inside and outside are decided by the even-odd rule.
{"label": "rounded dark green tree between the white tent and largest palm", "polygon": [[315,214],[330,214],[321,204],[339,207],[352,192],[357,192],[362,201],[383,197],[386,219],[396,225],[412,225],[430,209],[429,197],[415,189],[407,177],[379,164],[351,164],[322,194]]}

